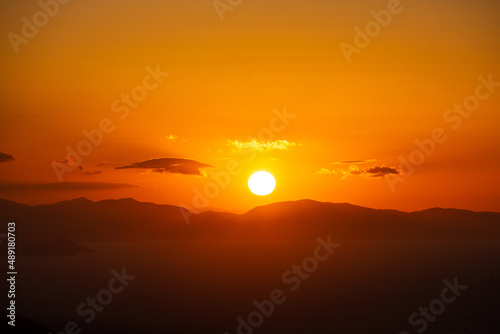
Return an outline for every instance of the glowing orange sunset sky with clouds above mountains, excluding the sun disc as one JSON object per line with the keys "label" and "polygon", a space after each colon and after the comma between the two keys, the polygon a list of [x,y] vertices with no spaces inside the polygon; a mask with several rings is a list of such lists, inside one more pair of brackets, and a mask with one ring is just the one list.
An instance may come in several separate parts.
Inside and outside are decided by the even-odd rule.
{"label": "glowing orange sunset sky with clouds above mountains, excluding the sun disc", "polygon": [[0,198],[500,211],[500,2],[394,1],[3,1]]}

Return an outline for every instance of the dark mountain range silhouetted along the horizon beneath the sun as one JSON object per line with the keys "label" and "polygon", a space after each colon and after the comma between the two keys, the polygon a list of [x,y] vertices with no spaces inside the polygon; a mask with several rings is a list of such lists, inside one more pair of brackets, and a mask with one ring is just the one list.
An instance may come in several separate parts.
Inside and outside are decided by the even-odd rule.
{"label": "dark mountain range silhouetted along the horizon beneath the sun", "polygon": [[500,213],[441,208],[407,213],[313,200],[273,203],[245,214],[194,214],[130,198],[38,206],[0,200],[0,210],[28,240],[307,241],[326,234],[337,240],[500,240]]}

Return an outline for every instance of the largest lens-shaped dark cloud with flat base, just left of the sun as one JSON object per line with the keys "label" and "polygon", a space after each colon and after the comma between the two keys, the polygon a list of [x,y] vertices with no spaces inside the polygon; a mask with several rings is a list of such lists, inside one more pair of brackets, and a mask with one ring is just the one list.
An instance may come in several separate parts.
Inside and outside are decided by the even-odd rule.
{"label": "largest lens-shaped dark cloud with flat base, just left of the sun", "polygon": [[207,167],[214,166],[190,159],[160,158],[135,162],[128,166],[116,167],[115,169],[140,168],[151,169],[156,173],[177,173],[201,176],[202,173],[200,172],[200,169]]}

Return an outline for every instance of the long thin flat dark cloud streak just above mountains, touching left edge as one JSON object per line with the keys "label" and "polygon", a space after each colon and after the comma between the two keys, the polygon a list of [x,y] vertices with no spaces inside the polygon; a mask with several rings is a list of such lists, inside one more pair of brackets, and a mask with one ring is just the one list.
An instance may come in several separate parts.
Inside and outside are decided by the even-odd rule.
{"label": "long thin flat dark cloud streak just above mountains, touching left edge", "polygon": [[4,183],[0,184],[0,192],[13,190],[109,190],[133,187],[137,186],[106,182]]}

